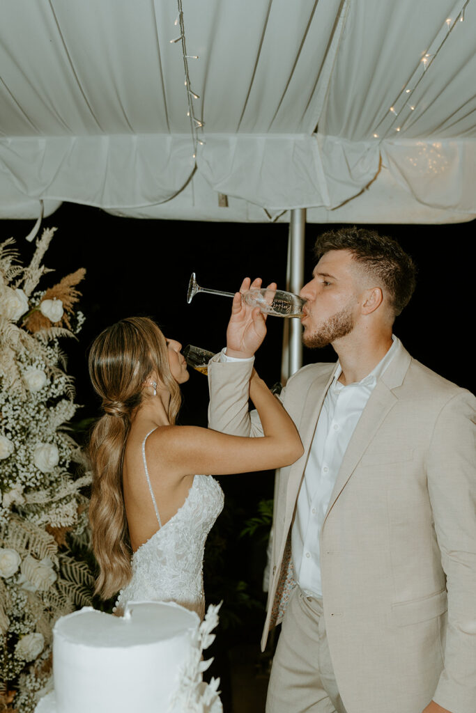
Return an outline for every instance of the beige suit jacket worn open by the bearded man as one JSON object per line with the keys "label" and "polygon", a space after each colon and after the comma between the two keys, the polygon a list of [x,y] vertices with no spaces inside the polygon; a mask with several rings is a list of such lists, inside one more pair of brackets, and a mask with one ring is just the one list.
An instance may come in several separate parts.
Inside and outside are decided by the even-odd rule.
{"label": "beige suit jacket worn open by the bearded man", "polygon": [[[208,369],[209,426],[262,435],[248,413],[252,364]],[[277,473],[271,611],[315,426],[335,364],[310,364],[281,398],[303,456]],[[405,349],[350,440],[321,532],[330,655],[349,713],[476,712],[475,398]]]}

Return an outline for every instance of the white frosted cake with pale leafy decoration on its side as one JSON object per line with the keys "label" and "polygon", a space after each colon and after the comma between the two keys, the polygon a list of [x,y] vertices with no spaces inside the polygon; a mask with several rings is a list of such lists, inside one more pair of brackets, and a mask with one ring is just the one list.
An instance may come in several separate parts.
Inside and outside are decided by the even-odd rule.
{"label": "white frosted cake with pale leafy decoration on its side", "polygon": [[54,627],[54,691],[36,713],[221,713],[219,681],[202,682],[205,620],[173,602],[131,602],[123,617],[83,607]]}

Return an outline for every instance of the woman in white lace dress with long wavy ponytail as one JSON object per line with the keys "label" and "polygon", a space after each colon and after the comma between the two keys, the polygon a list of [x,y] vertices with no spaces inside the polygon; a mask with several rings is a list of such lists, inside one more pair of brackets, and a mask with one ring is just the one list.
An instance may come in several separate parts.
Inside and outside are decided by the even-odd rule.
{"label": "woman in white lace dress with long wavy ponytail", "polygon": [[[240,309],[236,295],[233,310]],[[246,311],[250,329],[265,329],[259,309]],[[89,374],[104,411],[89,444],[96,593],[108,599],[119,591],[116,614],[129,600],[162,600],[203,617],[203,550],[223,508],[211,475],[293,463],[303,453],[293,421],[253,371],[250,399],[263,438],[176,426],[186,361],[181,344],[146,317],[99,334]]]}

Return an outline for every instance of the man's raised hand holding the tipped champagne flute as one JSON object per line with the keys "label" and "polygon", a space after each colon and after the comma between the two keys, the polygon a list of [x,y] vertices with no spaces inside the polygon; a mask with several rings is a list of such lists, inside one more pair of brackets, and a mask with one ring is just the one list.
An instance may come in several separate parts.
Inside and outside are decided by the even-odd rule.
{"label": "man's raised hand holding the tipped champagne flute", "polygon": [[[241,302],[241,292],[261,287],[261,279],[257,277],[250,281],[245,277],[241,283],[240,292],[233,297],[230,322],[226,330],[226,353],[241,359],[253,356],[260,347],[266,335],[266,315],[260,312],[259,307],[249,307]],[[270,289],[276,289],[275,282],[268,284]]]}

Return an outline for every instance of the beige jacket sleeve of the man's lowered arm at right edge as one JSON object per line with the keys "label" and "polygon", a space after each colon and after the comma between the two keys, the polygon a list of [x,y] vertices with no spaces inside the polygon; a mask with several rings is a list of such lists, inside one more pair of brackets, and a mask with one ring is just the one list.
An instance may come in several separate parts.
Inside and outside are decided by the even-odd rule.
{"label": "beige jacket sleeve of the man's lowered arm at right edge", "polygon": [[433,696],[452,713],[476,706],[475,398],[460,392],[442,409],[427,463],[428,490],[447,578],[445,667]]}

